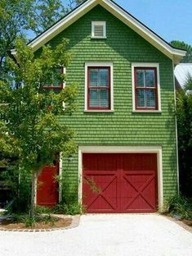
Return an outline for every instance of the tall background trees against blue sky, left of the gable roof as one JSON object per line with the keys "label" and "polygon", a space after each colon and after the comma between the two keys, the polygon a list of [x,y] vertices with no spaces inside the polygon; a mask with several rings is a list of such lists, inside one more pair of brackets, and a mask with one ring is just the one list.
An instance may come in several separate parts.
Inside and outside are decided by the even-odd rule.
{"label": "tall background trees against blue sky, left of the gable roof", "polygon": [[0,77],[7,75],[5,58],[17,37],[30,39],[33,33],[42,33],[80,2],[69,0],[65,7],[61,0],[1,0]]}

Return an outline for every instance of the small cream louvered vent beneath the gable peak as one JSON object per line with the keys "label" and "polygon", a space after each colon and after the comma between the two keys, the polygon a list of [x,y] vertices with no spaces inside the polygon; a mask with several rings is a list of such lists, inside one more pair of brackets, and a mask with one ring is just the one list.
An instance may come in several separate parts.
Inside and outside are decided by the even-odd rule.
{"label": "small cream louvered vent beneath the gable peak", "polygon": [[105,21],[92,21],[92,39],[106,39]]}

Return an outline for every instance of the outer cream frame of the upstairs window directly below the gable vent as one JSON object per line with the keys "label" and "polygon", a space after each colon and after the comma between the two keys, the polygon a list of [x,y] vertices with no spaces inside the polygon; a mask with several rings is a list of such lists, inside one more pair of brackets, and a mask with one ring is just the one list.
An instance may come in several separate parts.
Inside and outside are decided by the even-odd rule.
{"label": "outer cream frame of the upstairs window directly below the gable vent", "polygon": [[[109,109],[88,109],[87,88],[88,88],[88,67],[110,67],[110,108]],[[85,109],[84,112],[114,112],[114,65],[112,62],[86,62],[85,63]]]}

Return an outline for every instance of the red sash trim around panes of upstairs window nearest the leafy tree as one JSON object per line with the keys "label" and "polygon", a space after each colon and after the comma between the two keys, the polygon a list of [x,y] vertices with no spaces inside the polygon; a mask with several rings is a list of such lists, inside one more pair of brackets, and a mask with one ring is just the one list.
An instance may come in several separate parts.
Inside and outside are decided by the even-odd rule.
{"label": "red sash trim around panes of upstairs window nearest the leafy tree", "polygon": [[[108,80],[109,80],[109,85],[107,87],[101,87],[101,86],[89,86],[90,85],[90,70],[91,69],[107,69],[109,70],[108,72]],[[87,67],[87,110],[110,110],[111,109],[111,80],[110,80],[110,66],[88,66]],[[90,94],[89,91],[90,89],[108,89],[109,91],[109,107],[90,107]]]}

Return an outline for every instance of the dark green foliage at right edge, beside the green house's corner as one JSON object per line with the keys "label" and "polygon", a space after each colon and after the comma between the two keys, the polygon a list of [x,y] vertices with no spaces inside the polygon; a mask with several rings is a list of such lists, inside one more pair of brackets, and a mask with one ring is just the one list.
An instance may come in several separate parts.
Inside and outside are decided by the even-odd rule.
{"label": "dark green foliage at right edge, beside the green house's corner", "polygon": [[189,77],[185,90],[177,92],[176,117],[181,192],[192,197],[192,78]]}

